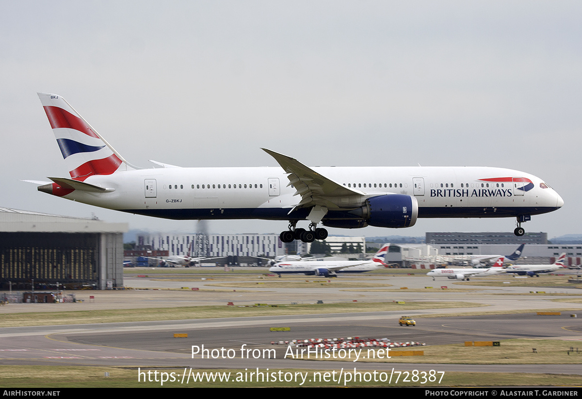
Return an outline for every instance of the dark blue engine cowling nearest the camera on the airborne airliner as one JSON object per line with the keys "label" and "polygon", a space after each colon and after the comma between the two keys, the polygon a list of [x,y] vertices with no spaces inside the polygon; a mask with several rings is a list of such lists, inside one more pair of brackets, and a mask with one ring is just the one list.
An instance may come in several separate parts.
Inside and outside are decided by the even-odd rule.
{"label": "dark blue engine cowling nearest the camera on the airborne airliner", "polygon": [[369,213],[366,223],[369,226],[393,229],[411,227],[418,218],[418,201],[410,195],[378,195],[368,198],[366,202]]}

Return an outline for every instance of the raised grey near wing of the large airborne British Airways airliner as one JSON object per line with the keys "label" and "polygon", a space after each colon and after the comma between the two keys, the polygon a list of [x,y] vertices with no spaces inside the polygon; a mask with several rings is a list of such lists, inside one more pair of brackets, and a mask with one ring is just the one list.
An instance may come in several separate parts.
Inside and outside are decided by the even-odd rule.
{"label": "raised grey near wing of the large airborne British Airways airliner", "polygon": [[354,208],[361,205],[361,197],[365,196],[365,193],[336,183],[290,156],[267,148],[262,148],[262,150],[275,158],[281,168],[289,173],[288,186],[293,185],[297,190],[293,195],[301,195],[301,201],[291,212],[316,205],[327,209]]}

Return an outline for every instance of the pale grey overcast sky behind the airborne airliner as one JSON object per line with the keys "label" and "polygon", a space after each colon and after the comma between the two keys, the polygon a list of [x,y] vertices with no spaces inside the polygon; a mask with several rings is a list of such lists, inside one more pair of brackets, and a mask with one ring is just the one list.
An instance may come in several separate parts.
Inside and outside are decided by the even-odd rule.
{"label": "pale grey overcast sky behind the airborne airliner", "polygon": [[[499,166],[565,206],[526,231],[582,233],[579,1],[0,1],[0,206],[193,230],[52,197],[69,176],[37,92],[66,98],[127,161]],[[304,223],[307,225],[307,223]],[[286,222],[212,221],[211,233]],[[306,226],[301,226],[306,227]],[[514,219],[419,219],[423,236]]]}

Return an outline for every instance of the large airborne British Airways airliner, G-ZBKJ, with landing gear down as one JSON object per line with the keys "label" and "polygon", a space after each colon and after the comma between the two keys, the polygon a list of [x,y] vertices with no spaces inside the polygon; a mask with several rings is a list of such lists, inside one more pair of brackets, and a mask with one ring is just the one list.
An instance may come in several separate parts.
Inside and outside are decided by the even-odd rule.
{"label": "large airborne British Airways airliner, G-ZBKJ, with landing gear down", "polygon": [[[142,169],[127,162],[68,102],[42,94],[70,177],[44,193],[166,219],[288,220],[281,241],[324,240],[329,227],[410,227],[417,218],[517,218],[555,211],[562,198],[539,177],[485,167],[308,168],[269,149],[278,167]],[[136,137],[136,140],[139,137]],[[402,151],[401,148],[398,151]],[[288,183],[286,183],[288,181]],[[308,230],[296,228],[309,220]]]}

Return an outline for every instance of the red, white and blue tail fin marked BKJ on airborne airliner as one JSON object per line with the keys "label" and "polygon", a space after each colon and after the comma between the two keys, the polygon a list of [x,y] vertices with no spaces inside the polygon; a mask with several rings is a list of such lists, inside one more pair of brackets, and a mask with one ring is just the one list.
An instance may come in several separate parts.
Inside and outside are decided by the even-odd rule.
{"label": "red, white and blue tail fin marked BKJ on airborne airliner", "polygon": [[130,166],[64,98],[38,93],[56,142],[74,180],[94,174],[112,174]]}

